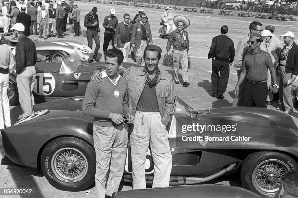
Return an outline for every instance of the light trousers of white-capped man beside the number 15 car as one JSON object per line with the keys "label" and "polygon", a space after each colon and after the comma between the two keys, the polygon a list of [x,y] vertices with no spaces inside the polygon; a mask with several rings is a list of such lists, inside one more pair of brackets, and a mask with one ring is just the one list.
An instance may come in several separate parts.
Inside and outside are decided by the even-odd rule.
{"label": "light trousers of white-capped man beside the number 15 car", "polygon": [[34,98],[32,94],[34,82],[35,82],[35,67],[27,66],[23,71],[17,75],[17,87],[19,93],[19,103],[23,110],[21,117],[34,113]]}

